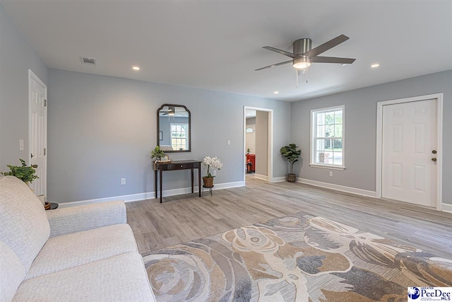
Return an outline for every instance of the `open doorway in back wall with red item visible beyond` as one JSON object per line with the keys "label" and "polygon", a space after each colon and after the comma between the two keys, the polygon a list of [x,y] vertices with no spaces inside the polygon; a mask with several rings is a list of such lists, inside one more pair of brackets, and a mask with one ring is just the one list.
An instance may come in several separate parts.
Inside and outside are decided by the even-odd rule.
{"label": "open doorway in back wall with red item visible beyond", "polygon": [[273,110],[244,106],[244,185],[246,178],[273,180]]}

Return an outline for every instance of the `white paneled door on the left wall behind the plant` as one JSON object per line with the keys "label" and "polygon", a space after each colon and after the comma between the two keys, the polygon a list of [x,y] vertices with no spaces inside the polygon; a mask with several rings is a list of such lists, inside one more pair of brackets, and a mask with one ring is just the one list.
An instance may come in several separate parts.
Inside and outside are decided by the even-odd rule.
{"label": "white paneled door on the left wall behind the plant", "polygon": [[30,98],[30,165],[37,165],[36,175],[30,187],[44,202],[47,195],[47,86],[29,72]]}

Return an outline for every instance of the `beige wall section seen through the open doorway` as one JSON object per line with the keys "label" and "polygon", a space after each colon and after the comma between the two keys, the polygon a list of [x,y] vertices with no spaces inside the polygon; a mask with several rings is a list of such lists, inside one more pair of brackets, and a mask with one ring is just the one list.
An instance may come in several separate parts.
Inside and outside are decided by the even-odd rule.
{"label": "beige wall section seen through the open doorway", "polygon": [[[279,153],[277,154],[279,156]],[[273,167],[275,167],[274,163]],[[256,111],[256,174],[268,175],[268,112],[266,111]],[[273,175],[273,177],[276,176]]]}

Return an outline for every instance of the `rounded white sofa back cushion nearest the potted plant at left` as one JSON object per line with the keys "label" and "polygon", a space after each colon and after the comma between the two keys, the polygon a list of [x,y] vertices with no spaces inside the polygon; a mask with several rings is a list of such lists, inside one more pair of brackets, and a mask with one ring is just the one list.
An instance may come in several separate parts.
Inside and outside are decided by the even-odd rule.
{"label": "rounded white sofa back cushion nearest the potted plant at left", "polygon": [[14,176],[0,178],[0,221],[0,240],[16,253],[28,272],[49,238],[49,221],[40,199]]}

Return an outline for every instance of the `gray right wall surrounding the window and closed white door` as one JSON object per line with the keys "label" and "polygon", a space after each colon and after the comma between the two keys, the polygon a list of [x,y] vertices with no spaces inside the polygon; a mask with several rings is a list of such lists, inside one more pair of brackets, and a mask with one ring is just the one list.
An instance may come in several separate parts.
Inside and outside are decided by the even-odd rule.
{"label": "gray right wall surrounding the window and closed white door", "polygon": [[[443,137],[443,202],[452,204],[452,71],[418,76],[377,86],[347,91],[322,98],[292,103],[292,141],[302,149],[302,163],[295,163],[299,177],[336,185],[376,190],[376,103],[381,100],[409,98],[418,95],[444,93]],[[309,167],[310,110],[345,105],[345,166],[346,170]]]}

